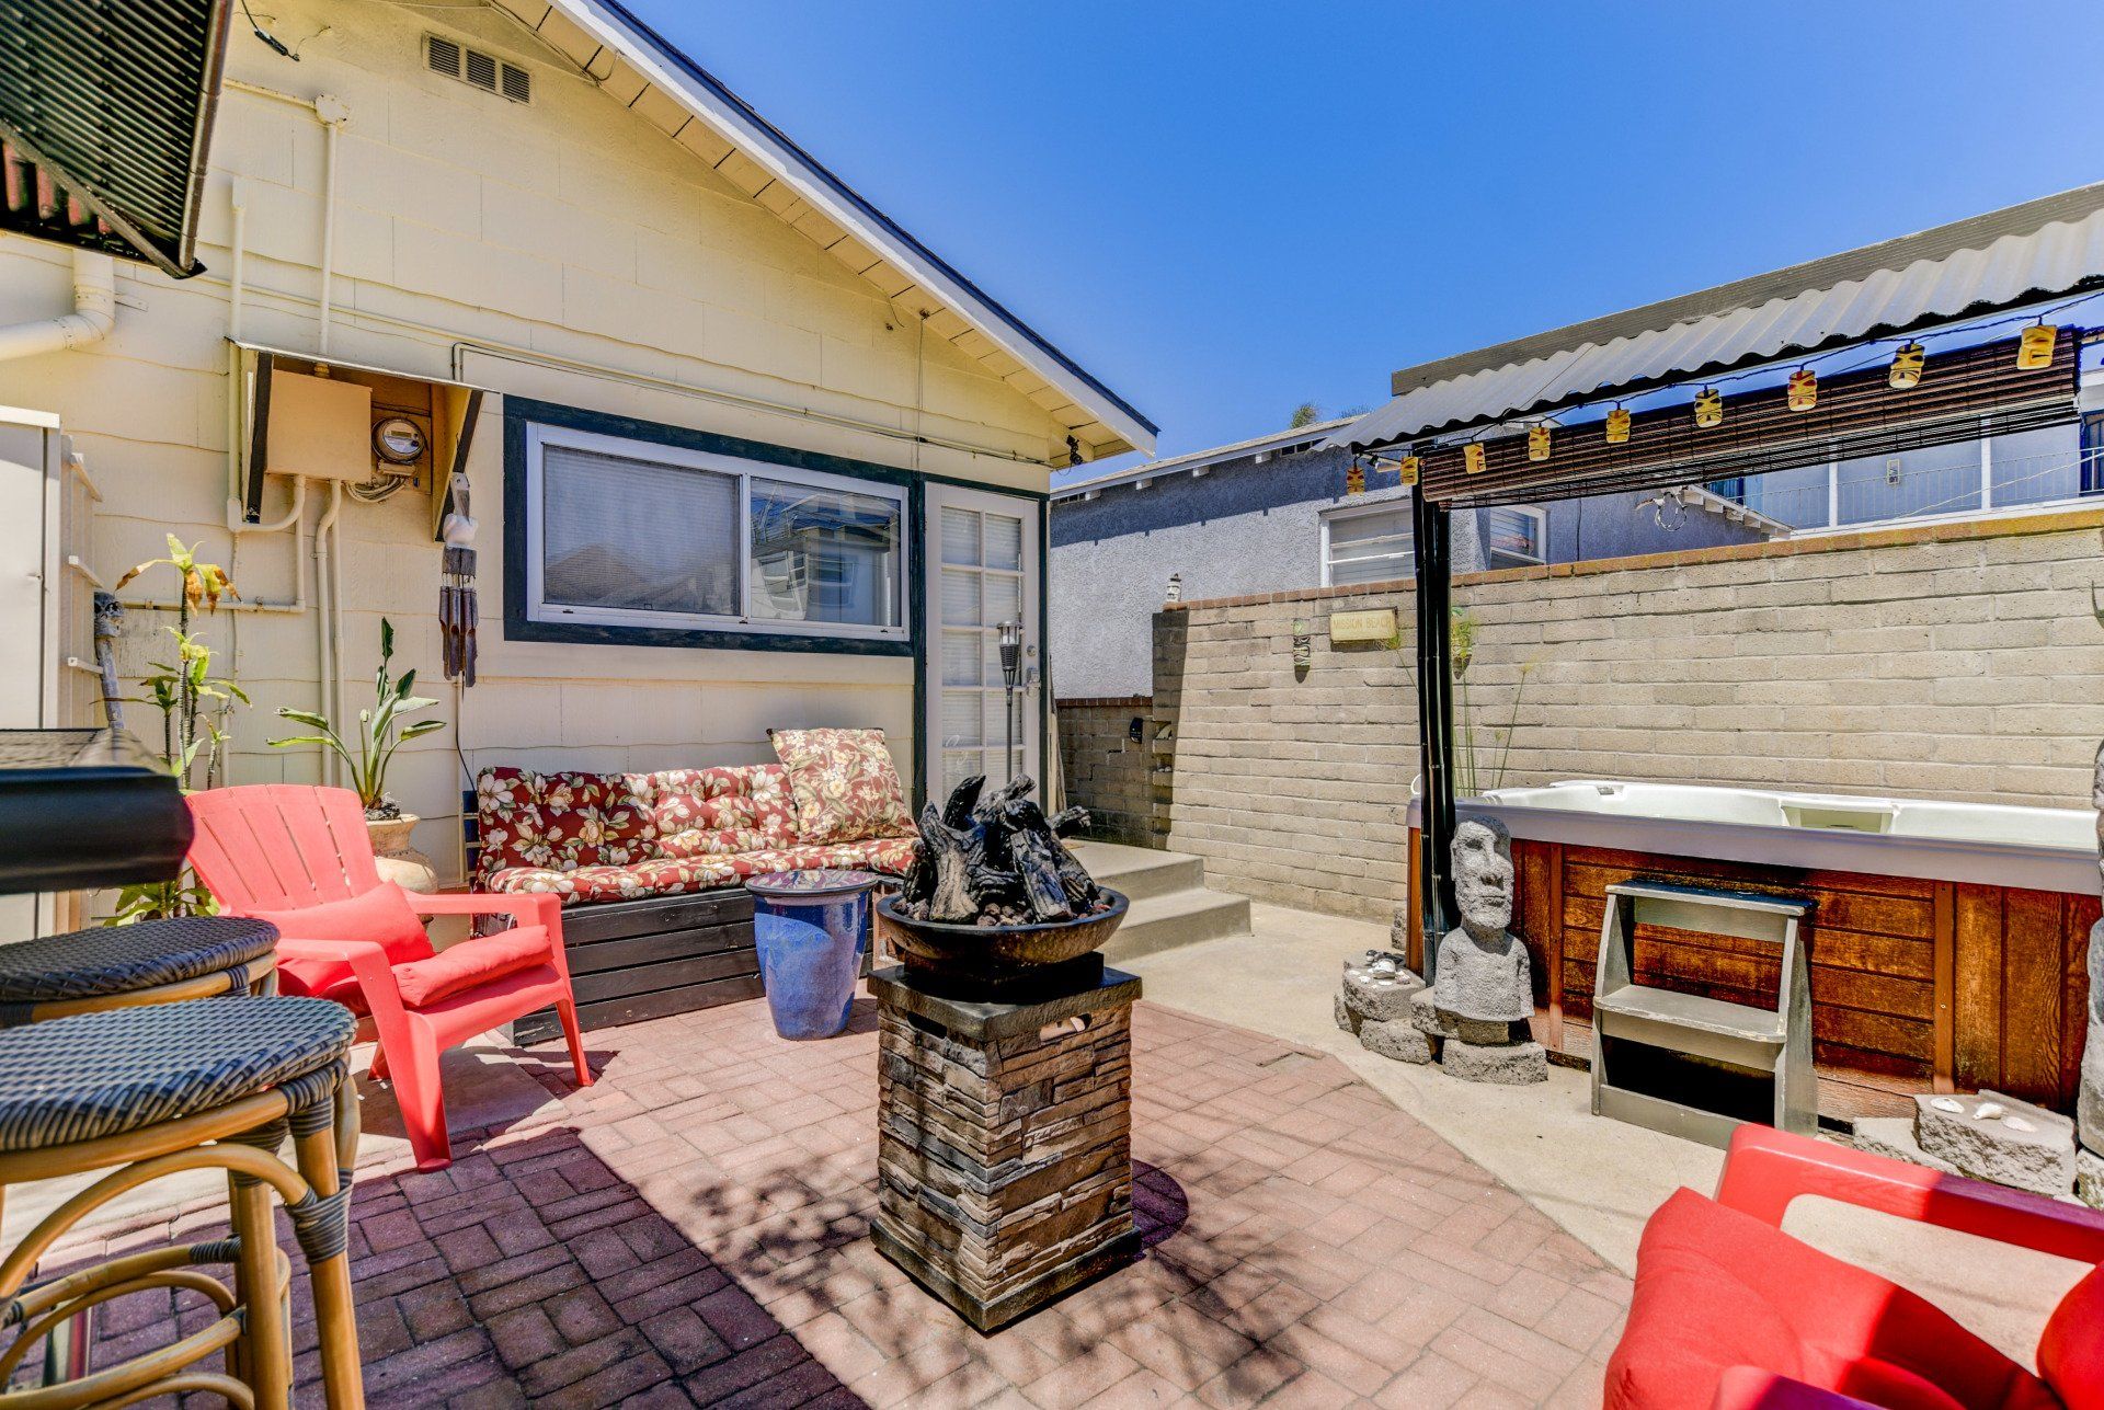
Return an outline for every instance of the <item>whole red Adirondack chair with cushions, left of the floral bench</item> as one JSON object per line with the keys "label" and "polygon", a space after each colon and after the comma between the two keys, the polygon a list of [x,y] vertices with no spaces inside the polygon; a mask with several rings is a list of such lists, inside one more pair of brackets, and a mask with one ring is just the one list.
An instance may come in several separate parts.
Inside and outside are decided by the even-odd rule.
{"label": "whole red Adirondack chair with cushions, left of the floral bench", "polygon": [[[452,1164],[438,1054],[555,1006],[576,1084],[591,1086],[576,1029],[562,907],[547,894],[421,897],[381,882],[358,793],[309,785],[210,789],[189,865],[231,915],[276,922],[286,993],[337,1000],[379,1040],[419,1170]],[[433,951],[421,915],[511,915],[511,928]]]}

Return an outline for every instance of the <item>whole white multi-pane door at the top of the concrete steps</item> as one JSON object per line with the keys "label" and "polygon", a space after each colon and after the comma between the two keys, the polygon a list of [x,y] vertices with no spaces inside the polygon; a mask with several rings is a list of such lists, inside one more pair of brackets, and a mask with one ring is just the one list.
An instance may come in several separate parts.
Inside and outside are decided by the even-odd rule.
{"label": "whole white multi-pane door at the top of the concrete steps", "polygon": [[[949,484],[928,486],[928,793],[940,802],[972,774],[1002,785],[1037,774],[1044,644],[1037,602],[1041,505]],[[1010,701],[1002,676],[1002,623],[1023,623]],[[1014,707],[1008,716],[1010,703]],[[1014,749],[1004,762],[1004,745]],[[1039,785],[1044,781],[1039,779]]]}

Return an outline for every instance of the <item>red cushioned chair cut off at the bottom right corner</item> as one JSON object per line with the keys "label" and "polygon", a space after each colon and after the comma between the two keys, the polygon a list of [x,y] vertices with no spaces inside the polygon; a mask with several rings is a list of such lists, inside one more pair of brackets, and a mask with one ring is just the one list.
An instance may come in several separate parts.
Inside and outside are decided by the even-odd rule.
{"label": "red cushioned chair cut off at the bottom right corner", "polygon": [[[1883,1277],[1782,1233],[1822,1195],[2096,1267],[2039,1341],[2039,1374]],[[1643,1227],[1618,1410],[2104,1410],[2104,1214],[1765,1126],[1732,1139],[1717,1197]]]}

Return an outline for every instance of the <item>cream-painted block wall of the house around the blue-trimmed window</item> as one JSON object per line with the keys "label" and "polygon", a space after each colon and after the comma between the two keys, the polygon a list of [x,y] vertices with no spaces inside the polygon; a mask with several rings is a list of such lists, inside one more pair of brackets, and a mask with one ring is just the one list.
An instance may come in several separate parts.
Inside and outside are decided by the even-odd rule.
{"label": "cream-painted block wall of the house around the blue-trimmed window", "polygon": [[[459,351],[459,375],[499,394],[1048,488],[1046,461],[1065,431],[1041,408],[951,343],[924,337],[911,309],[659,128],[543,63],[520,29],[488,21],[463,38],[530,61],[532,105],[429,74],[421,40],[446,23],[442,11],[286,0],[271,11],[276,34],[297,40],[328,27],[301,46],[297,65],[246,32],[234,36],[236,84],[332,95],[349,107],[337,168],[335,356],[446,377],[454,343],[471,339],[513,349]],[[0,404],[57,412],[101,486],[90,566],[105,581],[177,532],[229,564],[250,604],[292,598],[292,535],[244,535],[236,545],[227,532],[231,204],[240,192],[242,339],[316,351],[322,189],[313,114],[229,88],[204,202],[208,274],[173,282],[120,265],[107,341],[0,364]],[[0,322],[69,307],[69,274],[67,250],[0,236]],[[520,360],[534,356],[593,370]],[[983,455],[915,446],[915,431]],[[915,720],[905,659],[505,642],[501,398],[484,400],[469,474],[482,524],[482,680],[461,707],[438,690],[452,728],[404,747],[393,779],[398,798],[427,819],[419,844],[442,871],[457,871],[459,859],[457,749],[469,770],[648,768],[770,758],[768,726],[879,724],[907,768]],[[274,478],[263,520],[286,505],[288,486]],[[309,495],[309,530],[320,509]],[[345,501],[341,537],[351,707],[368,699],[383,615],[398,631],[396,665],[417,665],[425,686],[440,686],[429,499]],[[126,598],[145,591],[166,598],[168,579]],[[158,659],[166,621],[130,612],[126,671]],[[313,612],[234,608],[206,636],[255,694],[255,709],[231,720],[234,781],[316,779],[311,751],[265,747],[282,728],[274,707],[318,705]],[[133,724],[158,732],[149,711]]]}

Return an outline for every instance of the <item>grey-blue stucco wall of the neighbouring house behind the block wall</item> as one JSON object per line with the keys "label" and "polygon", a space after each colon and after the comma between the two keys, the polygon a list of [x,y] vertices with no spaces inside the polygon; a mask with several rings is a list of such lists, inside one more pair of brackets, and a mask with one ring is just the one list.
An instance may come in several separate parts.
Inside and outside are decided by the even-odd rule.
{"label": "grey-blue stucco wall of the neighbouring house behind the block wall", "polygon": [[[1168,471],[1145,490],[1109,486],[1096,499],[1052,501],[1052,650],[1060,697],[1145,694],[1149,619],[1170,572],[1185,600],[1292,591],[1321,585],[1321,520],[1342,507],[1408,497],[1395,476],[1370,476],[1347,495],[1342,450],[1281,455],[1262,465],[1225,461],[1203,476]],[[1387,480],[1387,484],[1382,484]],[[1666,549],[1751,543],[1761,535],[1719,516],[1692,513],[1660,526],[1641,495],[1601,495],[1544,505],[1549,562],[1620,558]],[[1456,516],[1454,564],[1483,566],[1475,516]]]}

